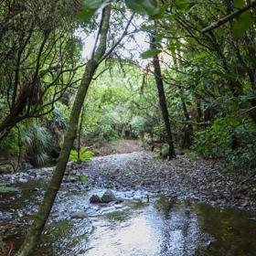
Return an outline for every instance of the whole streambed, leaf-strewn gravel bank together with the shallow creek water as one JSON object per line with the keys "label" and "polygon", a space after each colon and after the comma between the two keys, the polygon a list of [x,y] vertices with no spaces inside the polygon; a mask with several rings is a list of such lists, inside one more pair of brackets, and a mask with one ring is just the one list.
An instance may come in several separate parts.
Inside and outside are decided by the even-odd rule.
{"label": "whole streambed, leaf-strewn gravel bank together with the shallow creek water", "polygon": [[[9,251],[22,242],[51,171],[1,176],[20,188],[0,195]],[[70,163],[35,255],[255,255],[255,187],[252,172],[236,176],[185,156],[169,162],[134,152]],[[90,202],[108,188],[122,200]]]}

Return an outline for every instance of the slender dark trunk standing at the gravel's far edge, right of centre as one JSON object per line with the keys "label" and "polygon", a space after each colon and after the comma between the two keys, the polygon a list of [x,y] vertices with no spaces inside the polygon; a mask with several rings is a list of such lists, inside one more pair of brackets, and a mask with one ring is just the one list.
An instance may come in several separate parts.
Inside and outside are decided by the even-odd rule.
{"label": "slender dark trunk standing at the gravel's far edge, right of centre", "polygon": [[[155,36],[152,37],[151,48],[156,48]],[[176,152],[175,152],[175,146],[174,146],[174,142],[173,142],[171,124],[170,124],[170,120],[169,120],[169,112],[168,112],[166,98],[165,98],[164,82],[162,79],[161,67],[160,67],[158,55],[155,55],[155,57],[153,59],[153,66],[154,66],[154,74],[155,74],[155,83],[157,86],[158,97],[159,97],[159,104],[160,104],[163,119],[165,122],[165,130],[167,133],[167,139],[168,139],[168,144],[169,144],[168,156],[169,156],[169,159],[172,159],[176,156]]]}

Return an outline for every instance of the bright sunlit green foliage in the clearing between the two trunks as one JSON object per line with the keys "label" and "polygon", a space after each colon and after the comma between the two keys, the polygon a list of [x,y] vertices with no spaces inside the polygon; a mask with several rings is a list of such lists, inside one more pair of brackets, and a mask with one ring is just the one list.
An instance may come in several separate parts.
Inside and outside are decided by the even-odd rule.
{"label": "bright sunlit green foliage in the clearing between the two trunks", "polygon": [[140,69],[125,62],[121,68],[114,61],[110,72],[93,83],[85,102],[83,135],[87,144],[105,144],[130,133],[130,122],[139,112],[136,104],[142,101],[141,82]]}

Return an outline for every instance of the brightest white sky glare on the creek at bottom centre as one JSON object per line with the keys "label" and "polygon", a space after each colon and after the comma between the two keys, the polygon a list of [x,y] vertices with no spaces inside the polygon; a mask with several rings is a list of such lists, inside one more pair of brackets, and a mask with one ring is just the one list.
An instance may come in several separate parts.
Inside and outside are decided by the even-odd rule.
{"label": "brightest white sky glare on the creek at bottom centre", "polygon": [[82,255],[155,255],[158,249],[155,231],[141,212],[120,226],[112,223],[109,227],[96,229],[90,238],[91,249]]}

